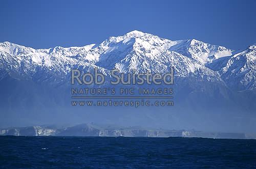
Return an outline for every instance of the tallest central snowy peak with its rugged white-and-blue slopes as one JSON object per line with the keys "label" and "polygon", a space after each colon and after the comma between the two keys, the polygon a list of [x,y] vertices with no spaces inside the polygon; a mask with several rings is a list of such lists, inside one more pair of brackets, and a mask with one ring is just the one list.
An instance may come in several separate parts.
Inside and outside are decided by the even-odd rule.
{"label": "tallest central snowy peak with its rugged white-and-blue slopes", "polygon": [[118,68],[124,73],[134,70],[137,73],[147,71],[164,73],[168,72],[173,65],[177,76],[185,77],[189,73],[195,74],[199,69],[204,69],[203,72],[208,74],[214,74],[200,62],[167,50],[174,43],[176,42],[144,33],[137,38],[126,35],[110,37],[98,48],[94,48],[100,52],[95,65],[108,70]]}

